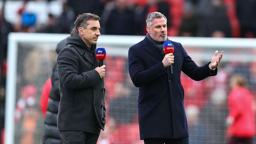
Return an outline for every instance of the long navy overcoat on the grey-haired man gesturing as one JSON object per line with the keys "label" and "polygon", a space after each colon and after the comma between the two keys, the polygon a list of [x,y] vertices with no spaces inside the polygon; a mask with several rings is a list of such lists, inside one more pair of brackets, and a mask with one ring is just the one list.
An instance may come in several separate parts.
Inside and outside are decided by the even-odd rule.
{"label": "long navy overcoat on the grey-haired man gesturing", "polygon": [[217,68],[211,70],[209,63],[198,67],[180,43],[172,43],[173,74],[164,68],[163,57],[147,37],[129,49],[129,74],[139,87],[140,139],[188,137],[180,73],[196,81],[217,74]]}

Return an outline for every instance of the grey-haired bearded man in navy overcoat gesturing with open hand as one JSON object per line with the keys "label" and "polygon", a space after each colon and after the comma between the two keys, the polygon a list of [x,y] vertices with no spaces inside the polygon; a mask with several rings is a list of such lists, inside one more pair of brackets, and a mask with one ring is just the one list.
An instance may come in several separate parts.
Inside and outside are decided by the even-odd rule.
{"label": "grey-haired bearded man in navy overcoat gesturing with open hand", "polygon": [[[183,71],[196,81],[215,76],[223,52],[217,56],[218,51],[215,51],[211,62],[203,67],[198,67],[177,42],[171,41],[174,52],[165,55],[163,43],[170,41],[166,17],[153,12],[146,22],[147,36],[128,53],[129,74],[133,84],[139,87],[140,139],[145,144],[188,144],[180,73]],[[169,68],[171,64],[173,74]]]}

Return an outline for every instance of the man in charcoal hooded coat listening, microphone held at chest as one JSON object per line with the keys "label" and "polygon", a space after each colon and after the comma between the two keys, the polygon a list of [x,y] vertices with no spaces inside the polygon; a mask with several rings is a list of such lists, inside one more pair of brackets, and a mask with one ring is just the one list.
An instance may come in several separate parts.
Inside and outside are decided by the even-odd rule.
{"label": "man in charcoal hooded coat listening, microphone held at chest", "polygon": [[57,117],[64,144],[96,144],[106,123],[105,65],[95,58],[100,17],[83,13],[75,21],[76,32],[59,53],[60,105]]}

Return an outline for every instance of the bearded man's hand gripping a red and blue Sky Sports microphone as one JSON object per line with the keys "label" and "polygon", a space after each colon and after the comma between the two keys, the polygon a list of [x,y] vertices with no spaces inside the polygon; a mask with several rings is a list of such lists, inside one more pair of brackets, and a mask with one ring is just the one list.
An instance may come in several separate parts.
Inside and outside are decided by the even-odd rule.
{"label": "bearded man's hand gripping a red and blue Sky Sports microphone", "polygon": [[171,68],[171,73],[173,74],[172,71],[172,64],[174,63],[174,45],[172,44],[172,42],[166,41],[164,42],[164,59],[163,59],[163,64],[164,64],[164,68],[167,68],[170,66]]}

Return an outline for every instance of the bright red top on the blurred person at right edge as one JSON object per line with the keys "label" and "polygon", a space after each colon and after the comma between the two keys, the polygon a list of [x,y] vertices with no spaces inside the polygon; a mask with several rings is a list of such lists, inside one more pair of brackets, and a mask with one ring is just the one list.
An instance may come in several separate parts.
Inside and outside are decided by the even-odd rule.
{"label": "bright red top on the blurred person at right edge", "polygon": [[255,134],[254,100],[244,87],[234,88],[228,95],[229,117],[234,122],[228,128],[230,136],[252,138]]}

